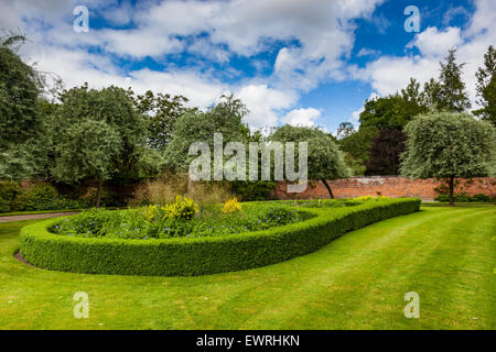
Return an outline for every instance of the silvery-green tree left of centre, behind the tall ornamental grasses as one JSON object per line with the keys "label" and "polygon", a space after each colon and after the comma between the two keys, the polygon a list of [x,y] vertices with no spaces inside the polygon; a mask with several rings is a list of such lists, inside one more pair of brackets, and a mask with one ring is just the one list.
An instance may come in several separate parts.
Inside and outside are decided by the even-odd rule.
{"label": "silvery-green tree left of centre, behind the tall ornamental grasses", "polygon": [[220,102],[206,112],[190,110],[181,116],[164,151],[166,168],[175,173],[187,170],[195,158],[188,155],[191,144],[206,142],[213,150],[214,133],[223,134],[224,145],[228,142],[247,143],[250,131],[242,123],[247,113],[248,110],[239,99],[223,96]]}

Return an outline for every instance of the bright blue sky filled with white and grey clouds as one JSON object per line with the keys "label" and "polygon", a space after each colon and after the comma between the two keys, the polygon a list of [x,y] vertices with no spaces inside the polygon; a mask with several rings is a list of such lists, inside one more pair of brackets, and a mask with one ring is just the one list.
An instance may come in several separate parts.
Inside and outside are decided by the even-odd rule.
{"label": "bright blue sky filled with white and grey clouds", "polygon": [[[84,24],[79,6],[87,32],[75,29]],[[418,32],[405,29],[410,6]],[[494,0],[0,0],[0,29],[29,40],[22,57],[66,88],[151,89],[201,108],[234,94],[254,129],[357,125],[366,99],[410,77],[438,77],[452,47],[475,105],[475,72],[496,45]]]}

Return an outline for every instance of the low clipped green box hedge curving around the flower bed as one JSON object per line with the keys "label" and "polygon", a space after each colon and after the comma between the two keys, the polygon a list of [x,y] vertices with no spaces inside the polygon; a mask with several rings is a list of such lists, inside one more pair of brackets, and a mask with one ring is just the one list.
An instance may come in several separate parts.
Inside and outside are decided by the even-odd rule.
{"label": "low clipped green box hedge curving around the flower bed", "polygon": [[194,276],[276,264],[311,253],[347,231],[411,213],[419,199],[385,199],[355,207],[305,208],[316,217],[265,231],[225,238],[119,240],[61,237],[60,219],[21,230],[21,255],[31,264],[85,274]]}

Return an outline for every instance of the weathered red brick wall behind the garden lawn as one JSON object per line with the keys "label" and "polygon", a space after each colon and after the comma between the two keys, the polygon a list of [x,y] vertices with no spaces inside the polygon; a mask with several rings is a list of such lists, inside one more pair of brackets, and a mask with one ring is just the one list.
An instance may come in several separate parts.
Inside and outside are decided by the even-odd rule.
{"label": "weathered red brick wall behind the garden lawn", "polygon": [[[496,178],[457,179],[457,182],[456,193],[464,191],[470,196],[476,194],[496,195]],[[336,198],[355,198],[380,194],[386,197],[416,197],[422,200],[433,200],[438,196],[434,188],[443,184],[433,178],[413,180],[398,176],[352,177],[327,183]],[[277,199],[328,198],[327,189],[322,182],[316,184],[309,182],[306,190],[301,194],[287,194],[285,190],[285,183],[280,182],[276,187],[274,197]]]}

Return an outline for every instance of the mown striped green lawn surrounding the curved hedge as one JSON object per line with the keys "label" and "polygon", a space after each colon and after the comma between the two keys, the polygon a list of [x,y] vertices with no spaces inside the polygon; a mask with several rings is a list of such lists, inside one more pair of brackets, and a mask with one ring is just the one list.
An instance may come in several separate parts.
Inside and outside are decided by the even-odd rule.
{"label": "mown striped green lawn surrounding the curved hedge", "polygon": [[[495,208],[423,211],[351,232],[312,254],[245,272],[138,277],[19,263],[0,224],[0,329],[495,329]],[[32,221],[31,221],[32,222]],[[89,319],[73,295],[89,295]],[[403,296],[420,295],[420,319]]]}

